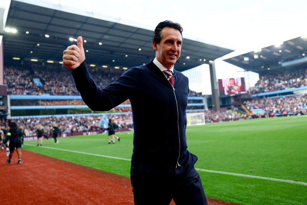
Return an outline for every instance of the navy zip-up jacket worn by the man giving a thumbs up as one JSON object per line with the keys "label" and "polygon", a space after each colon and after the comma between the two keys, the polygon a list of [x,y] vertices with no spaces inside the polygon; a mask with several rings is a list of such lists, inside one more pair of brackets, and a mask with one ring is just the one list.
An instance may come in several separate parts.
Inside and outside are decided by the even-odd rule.
{"label": "navy zip-up jacket worn by the man giving a thumbs up", "polygon": [[104,89],[97,87],[85,61],[72,70],[72,76],[83,101],[93,111],[107,111],[130,100],[134,124],[131,175],[140,164],[154,164],[154,169],[176,168],[177,162],[187,159],[188,78],[182,73],[174,69],[174,90],[152,60],[130,68]]}

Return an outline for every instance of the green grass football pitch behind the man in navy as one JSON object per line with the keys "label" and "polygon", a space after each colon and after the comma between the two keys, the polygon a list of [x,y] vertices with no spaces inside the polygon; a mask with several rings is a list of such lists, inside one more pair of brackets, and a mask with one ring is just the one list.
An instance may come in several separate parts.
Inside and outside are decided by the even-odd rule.
{"label": "green grass football pitch behind the man in navy", "polygon": [[[91,135],[59,138],[57,145],[44,140],[43,147],[26,145],[36,145],[36,140],[28,141],[23,149],[129,177],[130,161],[44,148],[130,159],[133,133],[116,134],[121,140],[115,144],[108,144],[107,135]],[[307,183],[307,116],[190,126],[186,134],[188,150],[198,156],[195,168]],[[213,198],[239,204],[307,204],[305,185],[198,172],[206,195]]]}

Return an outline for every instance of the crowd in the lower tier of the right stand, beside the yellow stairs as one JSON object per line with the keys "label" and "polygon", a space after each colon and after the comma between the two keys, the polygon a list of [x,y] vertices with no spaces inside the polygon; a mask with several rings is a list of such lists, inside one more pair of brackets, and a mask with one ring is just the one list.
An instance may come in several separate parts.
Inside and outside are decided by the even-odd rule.
{"label": "crowd in the lower tier of the right stand, beside the yellow stairs", "polygon": [[307,105],[307,94],[272,99],[255,99],[245,101],[248,110],[262,108],[270,116],[301,114]]}

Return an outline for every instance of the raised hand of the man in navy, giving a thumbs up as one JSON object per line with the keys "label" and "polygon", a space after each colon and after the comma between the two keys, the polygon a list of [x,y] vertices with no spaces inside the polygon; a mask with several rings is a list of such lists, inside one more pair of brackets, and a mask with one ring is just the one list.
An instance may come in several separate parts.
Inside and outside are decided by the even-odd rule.
{"label": "raised hand of the man in navy, giving a thumbs up", "polygon": [[63,52],[63,64],[70,70],[79,67],[85,60],[82,36],[78,37],[77,45],[70,45]]}

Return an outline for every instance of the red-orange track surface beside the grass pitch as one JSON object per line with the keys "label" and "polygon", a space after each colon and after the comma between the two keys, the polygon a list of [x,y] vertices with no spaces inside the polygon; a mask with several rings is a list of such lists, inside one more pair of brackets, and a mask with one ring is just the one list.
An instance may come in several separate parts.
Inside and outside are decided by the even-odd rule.
{"label": "red-orange track surface beside the grass pitch", "polygon": [[[0,204],[133,205],[130,178],[22,150],[22,164],[0,151]],[[232,205],[207,197],[210,205]],[[172,201],[170,204],[174,205]]]}

